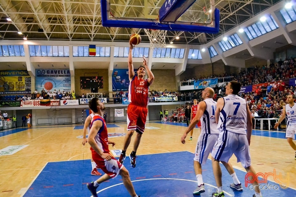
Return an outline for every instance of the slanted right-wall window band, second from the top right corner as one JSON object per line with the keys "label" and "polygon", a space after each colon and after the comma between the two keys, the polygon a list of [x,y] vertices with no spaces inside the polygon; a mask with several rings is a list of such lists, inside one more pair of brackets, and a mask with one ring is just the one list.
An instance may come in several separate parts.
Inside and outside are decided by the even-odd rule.
{"label": "slanted right-wall window band, second from the top right corner", "polygon": [[253,25],[246,27],[244,30],[249,40],[252,40],[277,28],[278,28],[278,24],[274,21],[274,18],[270,15],[270,16],[266,16],[266,21],[264,22],[258,21]]}

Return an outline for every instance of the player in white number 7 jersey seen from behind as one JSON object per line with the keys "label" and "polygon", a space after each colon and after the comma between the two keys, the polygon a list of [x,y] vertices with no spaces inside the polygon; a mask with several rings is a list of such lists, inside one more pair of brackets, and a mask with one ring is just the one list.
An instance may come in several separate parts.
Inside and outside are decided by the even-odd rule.
{"label": "player in white number 7 jersey seen from behind", "polygon": [[[256,175],[251,166],[249,152],[253,126],[252,117],[245,99],[236,95],[240,90],[241,84],[237,81],[231,81],[225,90],[228,96],[219,98],[217,101],[215,117],[219,119],[218,129],[220,129],[220,134],[211,152],[213,172],[218,188],[218,191],[212,194],[214,197],[224,196],[219,163],[220,161],[222,163],[228,162],[233,154],[236,156],[237,162],[241,162],[249,175]],[[249,179],[251,179],[250,177],[252,175],[248,176]],[[253,181],[252,184],[255,190],[253,197],[261,197],[257,181]]]}

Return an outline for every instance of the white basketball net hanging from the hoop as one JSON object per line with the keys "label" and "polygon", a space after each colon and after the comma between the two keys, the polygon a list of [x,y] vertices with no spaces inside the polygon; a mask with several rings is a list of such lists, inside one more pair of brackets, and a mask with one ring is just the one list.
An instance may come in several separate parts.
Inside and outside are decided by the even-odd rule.
{"label": "white basketball net hanging from the hoop", "polygon": [[150,48],[166,48],[167,30],[144,29],[150,41]]}

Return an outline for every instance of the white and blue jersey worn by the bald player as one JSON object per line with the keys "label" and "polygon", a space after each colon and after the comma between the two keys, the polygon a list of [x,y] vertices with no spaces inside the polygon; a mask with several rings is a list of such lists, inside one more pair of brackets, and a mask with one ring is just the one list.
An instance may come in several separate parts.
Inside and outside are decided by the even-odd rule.
{"label": "white and blue jersey worn by the bald player", "polygon": [[216,117],[215,111],[217,107],[217,102],[214,101],[212,98],[204,99],[206,103],[206,110],[201,121],[201,134],[219,134],[219,130],[216,127]]}

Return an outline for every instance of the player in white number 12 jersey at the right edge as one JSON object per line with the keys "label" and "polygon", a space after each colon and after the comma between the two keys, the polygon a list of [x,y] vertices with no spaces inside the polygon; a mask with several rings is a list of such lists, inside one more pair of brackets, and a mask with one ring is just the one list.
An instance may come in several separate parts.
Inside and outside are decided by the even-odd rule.
{"label": "player in white number 12 jersey at the right edge", "polygon": [[287,121],[287,128],[286,128],[286,138],[288,140],[288,143],[295,151],[295,160],[296,160],[296,145],[293,142],[293,139],[295,139],[295,132],[296,132],[296,105],[295,105],[295,95],[289,94],[287,96],[287,102],[288,104],[283,107],[283,113],[281,118],[278,120],[278,122],[274,125],[274,128],[276,129],[278,125],[285,119],[288,118]]}

